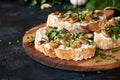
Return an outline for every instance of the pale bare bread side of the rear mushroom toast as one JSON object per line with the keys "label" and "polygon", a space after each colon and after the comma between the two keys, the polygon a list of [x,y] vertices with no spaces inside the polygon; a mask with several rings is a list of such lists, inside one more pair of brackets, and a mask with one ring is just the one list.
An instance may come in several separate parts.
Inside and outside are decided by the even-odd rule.
{"label": "pale bare bread side of the rear mushroom toast", "polygon": [[[54,13],[48,15],[47,26],[62,26],[72,32],[86,32],[86,29],[80,27],[82,26],[80,22],[70,23],[69,21],[62,21],[62,19],[58,18],[58,16],[54,15]],[[87,24],[84,24],[84,26],[87,26]]]}

